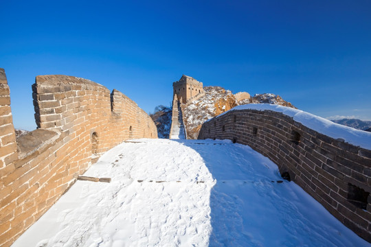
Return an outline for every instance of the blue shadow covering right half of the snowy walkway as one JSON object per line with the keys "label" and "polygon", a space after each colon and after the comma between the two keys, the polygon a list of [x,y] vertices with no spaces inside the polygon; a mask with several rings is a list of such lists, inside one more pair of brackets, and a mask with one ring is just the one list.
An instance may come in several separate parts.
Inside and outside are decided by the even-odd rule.
{"label": "blue shadow covering right half of the snowy walkway", "polygon": [[216,180],[210,246],[370,246],[249,146],[172,141],[198,152]]}

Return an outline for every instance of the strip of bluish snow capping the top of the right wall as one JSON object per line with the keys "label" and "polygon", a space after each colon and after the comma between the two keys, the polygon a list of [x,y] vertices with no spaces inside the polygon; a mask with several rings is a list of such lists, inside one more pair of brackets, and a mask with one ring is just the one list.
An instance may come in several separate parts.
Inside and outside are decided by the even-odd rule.
{"label": "strip of bluish snow capping the top of the right wall", "polygon": [[246,109],[273,110],[278,113],[283,113],[284,115],[293,117],[293,120],[303,124],[304,126],[311,128],[312,130],[315,130],[321,134],[325,134],[328,137],[333,137],[334,139],[344,139],[344,141],[347,143],[371,150],[371,132],[356,130],[355,128],[350,128],[341,124],[335,124],[333,121],[330,121],[328,119],[318,117],[311,113],[306,113],[303,110],[297,110],[286,106],[275,104],[246,104],[236,106],[231,110],[218,115],[217,117],[220,117],[232,110]]}

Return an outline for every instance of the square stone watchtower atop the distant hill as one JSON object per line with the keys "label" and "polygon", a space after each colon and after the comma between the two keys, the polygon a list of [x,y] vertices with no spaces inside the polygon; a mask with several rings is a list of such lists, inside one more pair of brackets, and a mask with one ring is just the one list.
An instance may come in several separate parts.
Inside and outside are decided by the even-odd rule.
{"label": "square stone watchtower atop the distant hill", "polygon": [[172,89],[174,90],[172,97],[177,95],[177,99],[183,104],[194,101],[204,93],[202,82],[187,75],[182,75],[179,81],[173,82]]}

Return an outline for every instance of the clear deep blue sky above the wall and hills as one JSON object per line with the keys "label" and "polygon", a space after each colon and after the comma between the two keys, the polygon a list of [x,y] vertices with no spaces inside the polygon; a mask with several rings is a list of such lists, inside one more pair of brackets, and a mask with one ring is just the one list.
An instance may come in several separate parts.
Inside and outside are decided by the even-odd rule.
{"label": "clear deep blue sky above the wall and hills", "polygon": [[14,126],[32,130],[36,75],[117,89],[146,112],[182,74],[275,93],[321,117],[371,120],[371,1],[1,1]]}

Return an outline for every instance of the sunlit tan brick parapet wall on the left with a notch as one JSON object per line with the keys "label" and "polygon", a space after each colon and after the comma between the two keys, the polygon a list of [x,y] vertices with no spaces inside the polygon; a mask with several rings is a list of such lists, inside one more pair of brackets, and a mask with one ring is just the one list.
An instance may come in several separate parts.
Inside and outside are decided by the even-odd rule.
{"label": "sunlit tan brick parapet wall on the left with a notch", "polygon": [[152,119],[119,91],[66,75],[37,76],[32,91],[38,129],[16,140],[0,69],[0,246],[10,246],[102,153],[126,139],[157,138]]}

